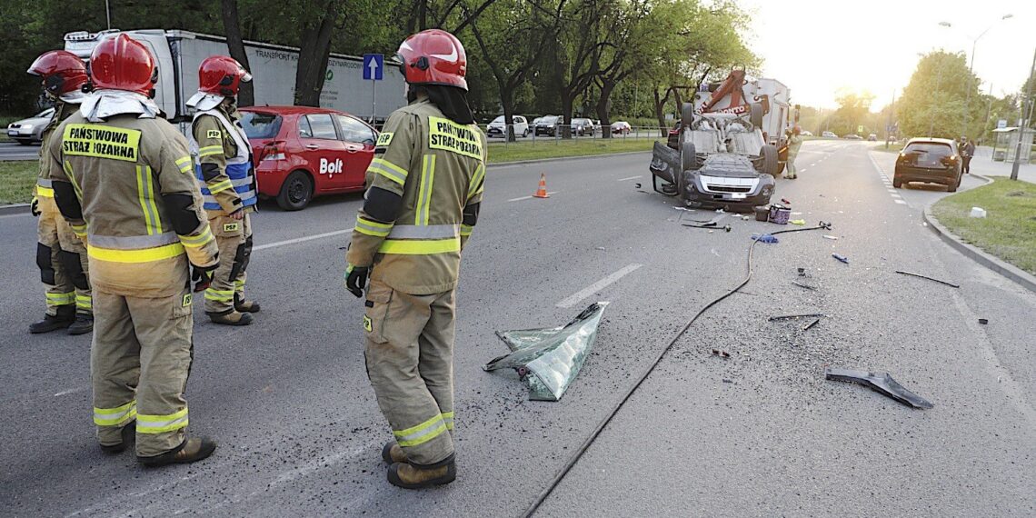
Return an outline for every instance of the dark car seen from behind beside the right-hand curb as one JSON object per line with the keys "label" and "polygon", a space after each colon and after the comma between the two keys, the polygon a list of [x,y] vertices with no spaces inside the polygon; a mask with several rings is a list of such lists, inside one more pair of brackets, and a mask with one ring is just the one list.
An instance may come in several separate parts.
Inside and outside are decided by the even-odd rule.
{"label": "dark car seen from behind beside the right-hand curb", "polygon": [[911,139],[896,159],[892,186],[912,181],[946,185],[950,193],[960,186],[960,155],[950,139]]}

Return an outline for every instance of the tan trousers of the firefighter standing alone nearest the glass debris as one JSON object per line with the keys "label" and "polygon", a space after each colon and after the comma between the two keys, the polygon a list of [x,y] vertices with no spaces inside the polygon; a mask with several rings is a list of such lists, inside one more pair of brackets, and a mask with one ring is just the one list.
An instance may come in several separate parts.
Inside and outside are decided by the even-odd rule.
{"label": "tan trousers of the firefighter standing alone nearest the glass debris", "polygon": [[453,458],[453,290],[411,295],[371,282],[367,375],[378,407],[411,464]]}

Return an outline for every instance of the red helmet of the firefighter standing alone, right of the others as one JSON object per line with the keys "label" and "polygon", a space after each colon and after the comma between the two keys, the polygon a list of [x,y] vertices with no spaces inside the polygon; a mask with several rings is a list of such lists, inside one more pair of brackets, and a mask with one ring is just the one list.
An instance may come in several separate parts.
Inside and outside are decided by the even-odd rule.
{"label": "red helmet of the firefighter standing alone, right of the others", "polygon": [[399,46],[396,59],[411,85],[448,85],[467,90],[467,54],[453,34],[439,29],[421,31]]}

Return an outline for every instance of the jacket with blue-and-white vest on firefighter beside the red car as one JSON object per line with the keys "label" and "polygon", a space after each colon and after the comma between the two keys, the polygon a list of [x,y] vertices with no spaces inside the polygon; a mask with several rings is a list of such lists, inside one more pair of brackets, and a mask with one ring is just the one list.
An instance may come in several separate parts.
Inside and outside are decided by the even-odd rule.
{"label": "jacket with blue-and-white vest on firefighter beside the red car", "polygon": [[191,154],[205,210],[233,213],[256,204],[256,179],[249,138],[232,114],[213,108],[195,113]]}

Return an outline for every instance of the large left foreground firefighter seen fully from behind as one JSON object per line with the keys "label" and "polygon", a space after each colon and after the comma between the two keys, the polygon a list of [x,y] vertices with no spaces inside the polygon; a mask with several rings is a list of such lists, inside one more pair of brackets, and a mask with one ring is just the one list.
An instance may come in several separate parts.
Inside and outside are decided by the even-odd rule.
{"label": "large left foreground firefighter seen fully from behind", "polygon": [[107,453],[136,440],[146,466],[194,462],[215,442],[185,433],[190,287],[211,276],[219,250],[188,142],[151,100],[151,55],[119,34],[97,44],[90,68],[95,91],[46,152],[55,201],[90,259],[97,440]]}

